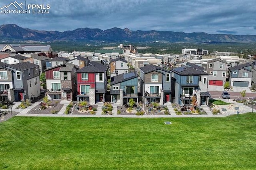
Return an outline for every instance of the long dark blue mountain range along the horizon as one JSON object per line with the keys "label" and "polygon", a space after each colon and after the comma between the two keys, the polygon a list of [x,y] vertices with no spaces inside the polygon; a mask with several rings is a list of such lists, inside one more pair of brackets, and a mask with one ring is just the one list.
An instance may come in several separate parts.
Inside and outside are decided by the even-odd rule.
{"label": "long dark blue mountain range along the horizon", "polygon": [[16,24],[0,25],[0,41],[106,41],[106,42],[256,42],[256,35],[184,33],[173,31],[131,31],[128,28],[106,30],[78,28],[72,31],[38,31]]}

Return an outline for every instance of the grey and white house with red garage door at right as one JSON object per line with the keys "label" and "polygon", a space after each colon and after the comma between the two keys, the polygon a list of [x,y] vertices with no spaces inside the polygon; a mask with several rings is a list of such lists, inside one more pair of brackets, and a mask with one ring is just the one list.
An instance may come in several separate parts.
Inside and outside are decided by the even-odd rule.
{"label": "grey and white house with red garage door at right", "polygon": [[206,72],[209,74],[210,86],[223,86],[226,82],[228,63],[220,58],[207,61]]}

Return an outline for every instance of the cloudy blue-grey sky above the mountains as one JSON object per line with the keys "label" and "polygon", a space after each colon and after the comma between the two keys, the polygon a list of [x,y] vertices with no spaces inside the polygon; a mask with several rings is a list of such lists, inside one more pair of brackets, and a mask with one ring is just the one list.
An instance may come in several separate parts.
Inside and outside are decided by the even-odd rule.
{"label": "cloudy blue-grey sky above the mountains", "polygon": [[[255,0],[16,0],[30,14],[12,14],[15,0],[0,1],[0,25],[67,31],[112,27],[130,30],[256,35]],[[25,5],[26,4],[26,5]],[[28,5],[50,5],[48,14]],[[42,7],[42,6],[41,6]],[[35,14],[34,14],[35,13]]]}

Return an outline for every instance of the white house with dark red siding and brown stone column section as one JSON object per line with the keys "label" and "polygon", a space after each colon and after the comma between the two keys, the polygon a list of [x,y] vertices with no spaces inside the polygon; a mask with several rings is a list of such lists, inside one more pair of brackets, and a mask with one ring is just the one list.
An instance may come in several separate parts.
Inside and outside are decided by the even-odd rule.
{"label": "white house with dark red siding and brown stone column section", "polygon": [[76,70],[74,64],[64,63],[45,70],[48,99],[76,99]]}

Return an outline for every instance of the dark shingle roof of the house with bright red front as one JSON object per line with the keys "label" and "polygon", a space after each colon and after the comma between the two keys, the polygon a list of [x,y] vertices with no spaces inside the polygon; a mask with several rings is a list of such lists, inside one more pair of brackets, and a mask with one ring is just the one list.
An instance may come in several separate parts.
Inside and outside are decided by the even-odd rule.
{"label": "dark shingle roof of the house with bright red front", "polygon": [[80,68],[76,72],[106,72],[108,66],[92,61],[89,66]]}

